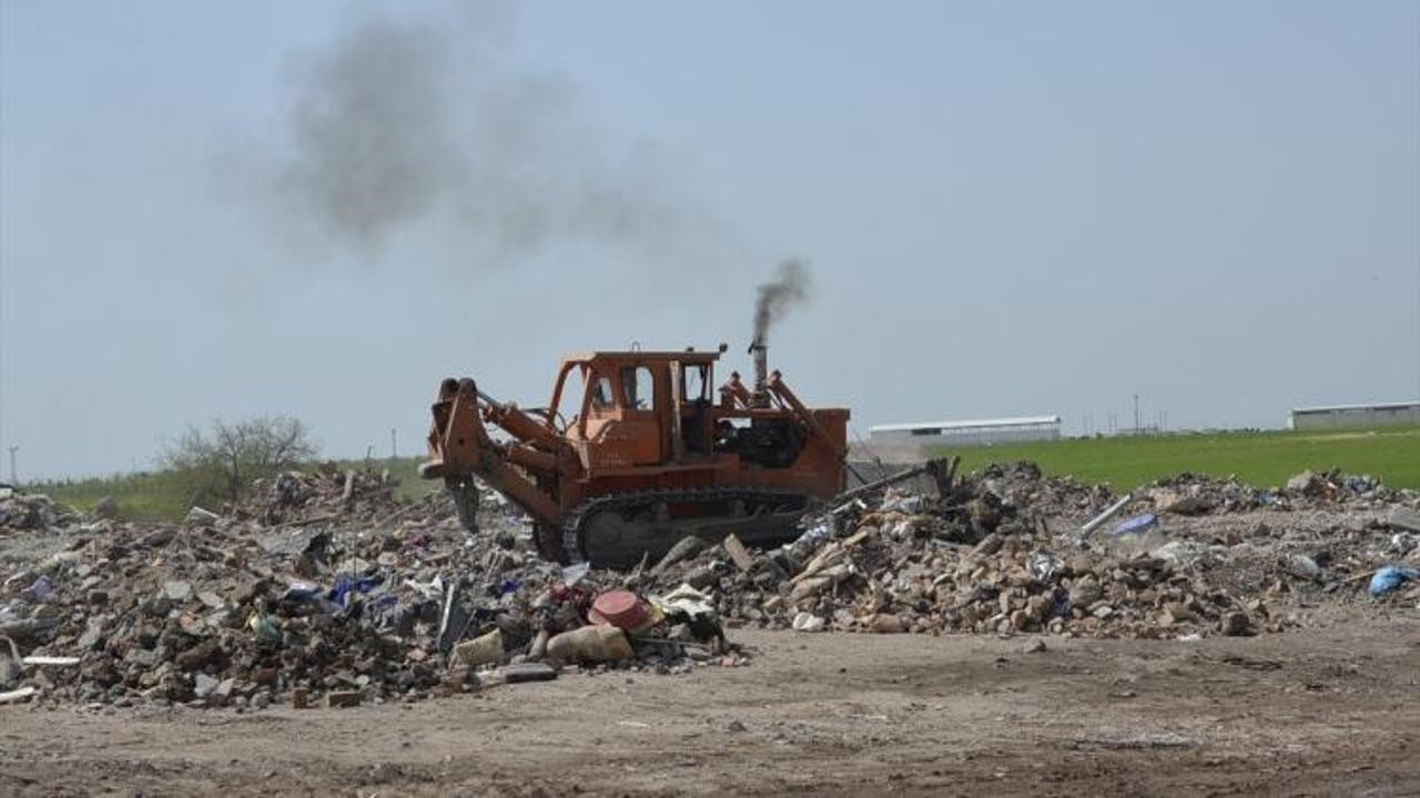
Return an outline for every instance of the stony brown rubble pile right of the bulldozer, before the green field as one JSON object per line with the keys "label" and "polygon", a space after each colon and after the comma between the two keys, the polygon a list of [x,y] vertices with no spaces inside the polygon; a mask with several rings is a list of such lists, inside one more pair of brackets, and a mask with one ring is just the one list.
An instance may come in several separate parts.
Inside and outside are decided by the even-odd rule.
{"label": "stony brown rubble pile right of the bulldozer, before the green field", "polygon": [[[1184,514],[1420,501],[1342,474],[1267,496],[1181,476],[1143,498]],[[1299,623],[1298,603],[1349,595],[1345,579],[1414,551],[1397,551],[1404,538],[1383,523],[1326,535],[1267,524],[1173,535],[1150,514],[1082,538],[1078,521],[1112,501],[1030,464],[993,466],[950,496],[889,491],[856,517],[819,518],[781,550],[748,555],[728,541],[660,565],[656,578],[706,589],[730,623],[764,628],[1180,638],[1287,629]]]}

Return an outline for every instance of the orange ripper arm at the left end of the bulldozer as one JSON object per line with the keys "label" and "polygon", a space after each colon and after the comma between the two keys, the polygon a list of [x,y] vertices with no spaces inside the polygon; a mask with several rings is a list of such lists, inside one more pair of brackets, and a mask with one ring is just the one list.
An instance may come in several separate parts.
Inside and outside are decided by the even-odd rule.
{"label": "orange ripper arm at the left end of the bulldozer", "polygon": [[[419,476],[443,479],[450,487],[477,476],[538,521],[561,525],[561,505],[513,467],[518,464],[530,470],[551,471],[557,467],[557,457],[527,444],[503,446],[494,442],[483,423],[479,400],[479,388],[471,379],[443,382],[439,388],[439,400],[433,406],[433,425],[429,429],[429,461],[419,467]],[[515,408],[500,406],[500,409],[508,413],[504,417],[521,416],[537,425],[531,416]],[[537,426],[541,429],[541,425]]]}

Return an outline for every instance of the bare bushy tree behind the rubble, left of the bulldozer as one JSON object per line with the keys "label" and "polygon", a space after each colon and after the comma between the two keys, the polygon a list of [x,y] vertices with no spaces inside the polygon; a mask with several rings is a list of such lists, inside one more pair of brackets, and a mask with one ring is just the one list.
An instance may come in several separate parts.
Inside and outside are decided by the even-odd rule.
{"label": "bare bushy tree behind the rubble, left of the bulldozer", "polygon": [[241,494],[260,477],[274,476],[318,453],[311,430],[287,416],[258,416],[236,423],[212,422],[187,427],[162,454],[168,469],[202,474],[206,486],[226,500]]}

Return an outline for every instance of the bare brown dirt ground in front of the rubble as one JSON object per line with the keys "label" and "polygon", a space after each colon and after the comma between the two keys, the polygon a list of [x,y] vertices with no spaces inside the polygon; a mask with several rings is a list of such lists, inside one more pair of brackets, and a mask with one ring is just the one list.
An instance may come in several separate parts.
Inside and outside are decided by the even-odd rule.
{"label": "bare brown dirt ground in front of the rubble", "polygon": [[1372,611],[1196,642],[741,630],[748,667],[348,710],[0,707],[0,794],[1416,794],[1420,611]]}

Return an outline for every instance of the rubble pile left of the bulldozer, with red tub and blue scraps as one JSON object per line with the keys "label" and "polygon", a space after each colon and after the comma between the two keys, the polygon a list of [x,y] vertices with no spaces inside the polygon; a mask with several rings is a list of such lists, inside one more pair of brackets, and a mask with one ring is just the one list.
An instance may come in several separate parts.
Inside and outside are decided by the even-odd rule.
{"label": "rubble pile left of the bulldozer, with red tub and blue scraps", "polygon": [[442,496],[400,505],[378,474],[258,487],[186,525],[85,525],[7,574],[0,652],[14,652],[0,655],[0,697],[349,704],[744,660],[694,591],[616,591],[618,574],[524,551],[515,525],[470,535]]}

